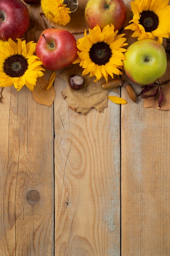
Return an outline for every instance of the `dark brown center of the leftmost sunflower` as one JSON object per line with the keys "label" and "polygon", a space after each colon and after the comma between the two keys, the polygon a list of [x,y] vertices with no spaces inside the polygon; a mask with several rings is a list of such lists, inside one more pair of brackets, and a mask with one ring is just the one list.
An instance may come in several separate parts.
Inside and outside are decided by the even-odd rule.
{"label": "dark brown center of the leftmost sunflower", "polygon": [[28,69],[28,61],[20,54],[12,55],[4,61],[3,70],[7,76],[20,77]]}

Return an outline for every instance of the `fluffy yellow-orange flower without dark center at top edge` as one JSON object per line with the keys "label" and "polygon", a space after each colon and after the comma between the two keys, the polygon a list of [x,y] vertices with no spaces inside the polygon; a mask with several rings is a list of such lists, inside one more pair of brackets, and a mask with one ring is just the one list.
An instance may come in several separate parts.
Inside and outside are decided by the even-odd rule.
{"label": "fluffy yellow-orange flower without dark center at top edge", "polygon": [[64,0],[41,0],[41,9],[49,20],[58,25],[65,26],[70,22],[70,8],[63,3]]}

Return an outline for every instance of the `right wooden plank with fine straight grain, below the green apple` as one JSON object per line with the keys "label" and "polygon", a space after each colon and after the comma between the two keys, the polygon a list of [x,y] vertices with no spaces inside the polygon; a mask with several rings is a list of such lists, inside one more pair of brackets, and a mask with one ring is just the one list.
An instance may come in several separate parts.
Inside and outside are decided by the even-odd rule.
{"label": "right wooden plank with fine straight grain, below the green apple", "polygon": [[121,113],[122,256],[168,256],[170,112],[143,108],[138,99]]}

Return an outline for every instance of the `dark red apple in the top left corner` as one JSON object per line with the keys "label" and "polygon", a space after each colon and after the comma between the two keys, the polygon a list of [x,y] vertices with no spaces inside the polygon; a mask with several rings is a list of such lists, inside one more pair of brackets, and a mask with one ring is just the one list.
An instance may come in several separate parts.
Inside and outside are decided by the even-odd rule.
{"label": "dark red apple in the top left corner", "polygon": [[27,31],[29,12],[20,0],[0,0],[0,39],[15,40]]}

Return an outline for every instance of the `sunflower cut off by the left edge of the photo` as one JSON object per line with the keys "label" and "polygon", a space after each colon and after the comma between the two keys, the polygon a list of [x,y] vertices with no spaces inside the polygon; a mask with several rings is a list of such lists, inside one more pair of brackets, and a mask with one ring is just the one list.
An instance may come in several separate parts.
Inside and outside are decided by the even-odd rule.
{"label": "sunflower cut off by the left edge of the photo", "polygon": [[31,91],[36,85],[37,77],[43,76],[45,71],[42,62],[34,54],[36,43],[16,39],[16,43],[9,38],[0,40],[0,87],[14,85],[19,91],[26,85]]}

